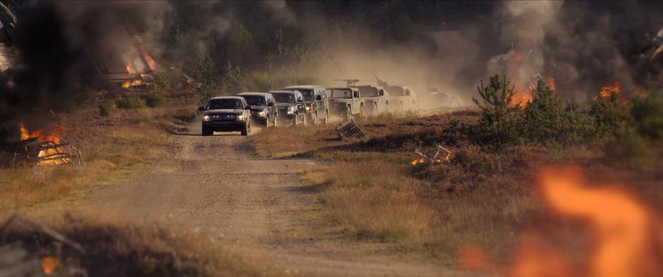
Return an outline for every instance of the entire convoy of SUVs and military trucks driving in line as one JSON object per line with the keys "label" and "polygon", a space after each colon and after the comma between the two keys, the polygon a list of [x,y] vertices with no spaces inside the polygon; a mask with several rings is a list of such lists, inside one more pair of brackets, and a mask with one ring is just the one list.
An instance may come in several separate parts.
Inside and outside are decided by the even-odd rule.
{"label": "entire convoy of SUVs and military trucks driving in line", "polygon": [[417,97],[410,87],[377,80],[378,85],[355,85],[359,80],[353,79],[343,80],[348,82],[346,87],[296,85],[269,92],[212,97],[206,106],[199,108],[203,112],[202,135],[232,131],[248,135],[252,123],[265,127],[275,127],[279,122],[328,123],[330,116],[347,121],[415,107]]}

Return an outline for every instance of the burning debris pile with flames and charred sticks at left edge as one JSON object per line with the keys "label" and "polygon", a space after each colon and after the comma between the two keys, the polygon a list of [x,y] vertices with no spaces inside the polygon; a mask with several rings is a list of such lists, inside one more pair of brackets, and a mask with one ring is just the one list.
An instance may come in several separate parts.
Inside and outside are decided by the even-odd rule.
{"label": "burning debris pile with flames and charred sticks at left edge", "polygon": [[52,166],[62,164],[83,165],[83,155],[78,144],[73,146],[63,139],[64,125],[30,132],[19,123],[20,140],[0,143],[0,165]]}

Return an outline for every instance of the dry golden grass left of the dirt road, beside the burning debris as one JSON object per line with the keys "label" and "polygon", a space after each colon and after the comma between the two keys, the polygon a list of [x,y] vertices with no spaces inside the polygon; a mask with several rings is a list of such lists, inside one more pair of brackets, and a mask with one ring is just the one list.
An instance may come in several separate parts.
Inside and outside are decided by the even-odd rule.
{"label": "dry golden grass left of the dirt road, beside the burning debris", "polygon": [[85,105],[48,119],[65,125],[68,142],[80,143],[85,166],[0,168],[1,214],[69,197],[104,180],[145,170],[166,154],[166,132],[182,130],[190,111],[195,111],[182,98],[167,99],[157,109],[116,109],[107,117],[99,116],[96,106]]}

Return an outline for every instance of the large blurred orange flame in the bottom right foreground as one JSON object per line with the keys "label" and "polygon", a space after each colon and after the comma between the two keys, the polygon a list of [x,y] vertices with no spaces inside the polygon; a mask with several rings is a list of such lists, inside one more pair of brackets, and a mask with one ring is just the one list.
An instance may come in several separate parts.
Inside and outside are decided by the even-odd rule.
{"label": "large blurred orange flame in the bottom right foreground", "polygon": [[585,264],[571,266],[553,243],[541,235],[521,238],[507,268],[490,263],[475,246],[463,247],[460,262],[467,269],[513,277],[644,277],[660,276],[663,233],[652,211],[635,197],[615,187],[585,185],[578,168],[545,168],[539,185],[546,202],[559,216],[585,223],[591,247]]}

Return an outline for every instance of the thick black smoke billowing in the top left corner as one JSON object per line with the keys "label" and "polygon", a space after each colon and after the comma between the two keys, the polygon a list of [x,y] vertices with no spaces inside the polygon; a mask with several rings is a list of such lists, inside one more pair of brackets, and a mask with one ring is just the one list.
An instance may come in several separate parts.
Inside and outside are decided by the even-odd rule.
{"label": "thick black smoke billowing in the top left corner", "polygon": [[[19,56],[11,87],[0,88],[4,118],[25,109],[56,109],[76,97],[97,74],[92,55],[131,45],[128,26],[144,30],[147,41],[161,33],[169,5],[160,2],[47,2],[19,18],[11,32]],[[6,39],[7,41],[7,39]]]}

